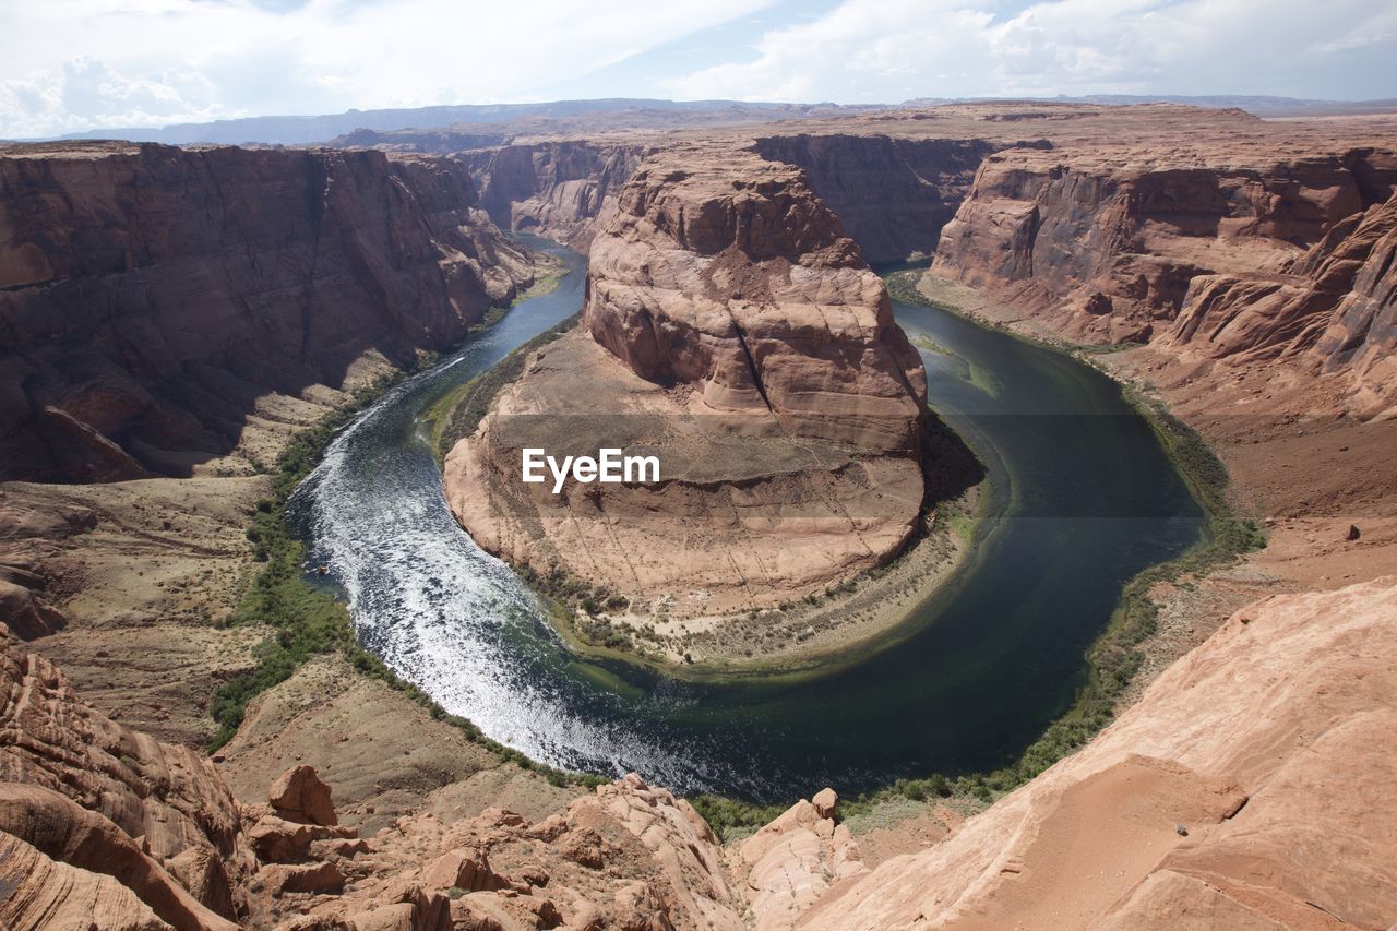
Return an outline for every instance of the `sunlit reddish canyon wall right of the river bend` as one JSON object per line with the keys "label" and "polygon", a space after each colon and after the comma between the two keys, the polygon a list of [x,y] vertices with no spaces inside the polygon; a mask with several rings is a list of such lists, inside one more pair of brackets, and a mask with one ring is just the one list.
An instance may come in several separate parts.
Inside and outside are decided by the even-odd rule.
{"label": "sunlit reddish canyon wall right of the river bend", "polygon": [[1382,361],[1394,192],[1389,150],[1010,150],[985,161],[932,274],[1067,338],[1343,368],[1355,403],[1382,408],[1397,401]]}

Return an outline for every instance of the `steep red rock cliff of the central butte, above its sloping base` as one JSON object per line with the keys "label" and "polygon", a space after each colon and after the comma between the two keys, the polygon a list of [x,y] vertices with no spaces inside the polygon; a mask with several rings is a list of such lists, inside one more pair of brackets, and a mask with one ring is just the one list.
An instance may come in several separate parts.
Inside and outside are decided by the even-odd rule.
{"label": "steep red rock cliff of the central butte, above its sloping base", "polygon": [[583,326],[636,375],[800,435],[909,450],[926,376],[883,282],[789,165],[652,159],[592,243]]}

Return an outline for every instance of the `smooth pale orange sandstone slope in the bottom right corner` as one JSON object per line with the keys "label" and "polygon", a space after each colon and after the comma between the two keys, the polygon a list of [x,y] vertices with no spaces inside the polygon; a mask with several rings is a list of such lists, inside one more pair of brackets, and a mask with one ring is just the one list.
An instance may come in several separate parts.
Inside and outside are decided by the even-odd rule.
{"label": "smooth pale orange sandstone slope in the bottom right corner", "polygon": [[1394,582],[1243,608],[1090,746],[802,927],[1386,927]]}

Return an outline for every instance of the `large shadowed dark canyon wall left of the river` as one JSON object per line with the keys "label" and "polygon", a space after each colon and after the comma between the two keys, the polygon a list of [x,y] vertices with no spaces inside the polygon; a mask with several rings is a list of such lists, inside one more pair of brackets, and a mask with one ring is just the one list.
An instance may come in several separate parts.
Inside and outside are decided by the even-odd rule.
{"label": "large shadowed dark canyon wall left of the river", "polygon": [[257,397],[444,349],[531,275],[451,161],[7,147],[0,478],[189,474]]}

